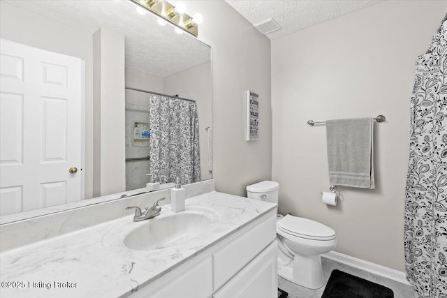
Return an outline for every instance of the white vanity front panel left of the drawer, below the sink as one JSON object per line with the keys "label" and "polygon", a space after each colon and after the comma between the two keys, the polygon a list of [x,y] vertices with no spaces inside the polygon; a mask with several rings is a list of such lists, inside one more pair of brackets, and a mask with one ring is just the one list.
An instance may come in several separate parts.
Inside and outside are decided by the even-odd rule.
{"label": "white vanity front panel left of the drawer, below the sink", "polygon": [[163,290],[150,298],[208,298],[212,295],[212,261],[208,258],[200,265],[191,268],[186,274],[178,276]]}

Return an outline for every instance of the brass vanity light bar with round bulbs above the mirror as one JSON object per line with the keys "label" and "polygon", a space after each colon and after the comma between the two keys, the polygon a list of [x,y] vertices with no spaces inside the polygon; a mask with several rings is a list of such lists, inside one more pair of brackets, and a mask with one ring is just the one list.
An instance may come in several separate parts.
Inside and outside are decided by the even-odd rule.
{"label": "brass vanity light bar with round bulbs above the mirror", "polygon": [[186,6],[183,2],[178,2],[176,6],[165,0],[129,0],[138,5],[139,8],[154,13],[161,18],[159,24],[163,21],[170,22],[177,26],[177,29],[198,35],[198,24],[202,22],[202,16],[198,13],[191,17],[185,13]]}

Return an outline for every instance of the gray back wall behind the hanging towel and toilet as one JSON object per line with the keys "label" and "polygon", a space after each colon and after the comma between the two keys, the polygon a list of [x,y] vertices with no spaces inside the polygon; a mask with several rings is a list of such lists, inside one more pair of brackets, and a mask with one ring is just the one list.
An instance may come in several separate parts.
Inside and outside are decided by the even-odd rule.
{"label": "gray back wall behind the hanging towel and toilet", "polygon": [[[446,1],[384,1],[272,40],[272,179],[279,211],[325,223],[335,251],[404,270],[404,189],[414,64],[447,9]],[[309,119],[375,117],[376,189],[328,191],[325,126]]]}

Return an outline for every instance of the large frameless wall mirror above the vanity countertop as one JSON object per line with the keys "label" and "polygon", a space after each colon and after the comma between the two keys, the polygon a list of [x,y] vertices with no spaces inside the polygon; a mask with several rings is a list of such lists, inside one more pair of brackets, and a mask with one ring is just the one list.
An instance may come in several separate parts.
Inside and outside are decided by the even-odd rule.
{"label": "large frameless wall mirror above the vanity countertop", "polygon": [[208,45],[129,0],[0,5],[1,223],[212,178]]}

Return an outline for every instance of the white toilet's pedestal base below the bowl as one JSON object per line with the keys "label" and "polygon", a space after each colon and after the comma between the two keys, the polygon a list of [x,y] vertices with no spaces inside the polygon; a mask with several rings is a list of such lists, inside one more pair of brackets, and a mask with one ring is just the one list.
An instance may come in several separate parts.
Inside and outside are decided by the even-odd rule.
{"label": "white toilet's pedestal base below the bowl", "polygon": [[[280,264],[280,262],[278,262]],[[312,290],[323,287],[323,269],[320,255],[295,254],[293,262],[281,266],[278,264],[278,275],[292,283]]]}

